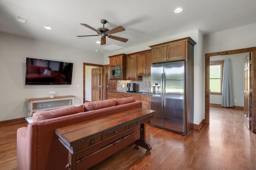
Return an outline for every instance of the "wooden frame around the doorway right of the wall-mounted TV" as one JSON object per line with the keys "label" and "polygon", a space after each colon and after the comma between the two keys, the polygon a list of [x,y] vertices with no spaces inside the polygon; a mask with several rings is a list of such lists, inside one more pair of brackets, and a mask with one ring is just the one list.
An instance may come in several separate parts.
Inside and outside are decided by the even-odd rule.
{"label": "wooden frame around the doorway right of the wall-mounted TV", "polygon": [[103,95],[104,95],[104,91],[103,91],[103,87],[104,87],[104,82],[103,82],[103,80],[104,80],[104,66],[103,65],[100,65],[100,64],[92,64],[92,63],[83,63],[83,84],[84,84],[84,86],[83,86],[83,103],[85,103],[85,86],[86,86],[86,83],[85,83],[85,66],[96,66],[96,67],[100,67],[100,69],[101,69],[101,74],[100,74],[100,100],[104,100],[104,97],[103,97]]}

